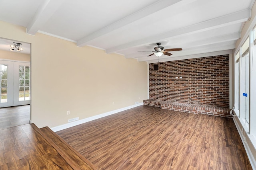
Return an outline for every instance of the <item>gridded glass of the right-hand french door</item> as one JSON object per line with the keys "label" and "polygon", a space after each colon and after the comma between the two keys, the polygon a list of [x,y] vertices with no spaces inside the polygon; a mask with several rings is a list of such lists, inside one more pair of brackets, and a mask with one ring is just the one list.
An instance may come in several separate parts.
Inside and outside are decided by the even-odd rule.
{"label": "gridded glass of the right-hand french door", "polygon": [[19,66],[19,101],[30,100],[30,66]]}

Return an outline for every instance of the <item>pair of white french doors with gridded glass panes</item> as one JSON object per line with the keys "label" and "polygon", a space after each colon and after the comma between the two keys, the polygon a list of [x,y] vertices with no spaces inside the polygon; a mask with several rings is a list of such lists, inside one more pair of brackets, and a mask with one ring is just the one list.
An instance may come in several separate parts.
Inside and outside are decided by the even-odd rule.
{"label": "pair of white french doors with gridded glass panes", "polygon": [[0,107],[30,104],[30,63],[0,60]]}

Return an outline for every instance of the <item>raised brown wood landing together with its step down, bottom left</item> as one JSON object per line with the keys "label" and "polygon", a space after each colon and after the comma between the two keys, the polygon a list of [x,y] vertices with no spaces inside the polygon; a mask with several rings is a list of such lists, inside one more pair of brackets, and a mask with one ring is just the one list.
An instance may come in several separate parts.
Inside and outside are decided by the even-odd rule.
{"label": "raised brown wood landing together with its step down, bottom left", "polygon": [[97,170],[48,127],[0,130],[0,170]]}

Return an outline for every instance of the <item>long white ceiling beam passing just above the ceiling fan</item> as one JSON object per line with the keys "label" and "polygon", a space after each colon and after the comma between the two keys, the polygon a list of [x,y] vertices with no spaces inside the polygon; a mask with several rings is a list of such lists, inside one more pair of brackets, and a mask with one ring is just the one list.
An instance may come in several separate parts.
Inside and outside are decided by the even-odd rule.
{"label": "long white ceiling beam passing just above the ceiling fan", "polygon": [[203,22],[200,22],[200,23],[197,23],[194,25],[190,25],[188,27],[183,27],[183,28],[176,29],[173,31],[168,31],[166,33],[161,33],[159,35],[154,35],[152,37],[146,37],[144,39],[139,39],[137,41],[132,41],[130,43],[118,45],[116,47],[106,49],[106,53],[110,54],[110,53],[114,53],[114,52],[117,52],[117,51],[120,51],[123,49],[130,48],[130,47],[135,47],[138,45],[147,45],[149,43],[161,41],[161,40],[164,40],[164,39],[170,38],[170,37],[178,37],[181,35],[190,35],[193,33],[199,33],[202,31],[207,31],[210,29],[218,28],[218,27],[224,27],[227,25],[235,24],[235,23],[245,22],[250,18],[250,16],[251,16],[250,9],[242,10],[239,12],[228,14],[226,16],[221,16],[221,17],[203,21]]}

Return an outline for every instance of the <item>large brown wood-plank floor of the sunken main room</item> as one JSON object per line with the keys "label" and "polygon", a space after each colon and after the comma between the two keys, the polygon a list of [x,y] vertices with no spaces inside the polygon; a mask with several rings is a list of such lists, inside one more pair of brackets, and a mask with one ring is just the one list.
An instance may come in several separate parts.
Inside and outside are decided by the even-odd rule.
{"label": "large brown wood-plank floor of the sunken main room", "polygon": [[139,106],[56,132],[104,170],[251,170],[232,118]]}

